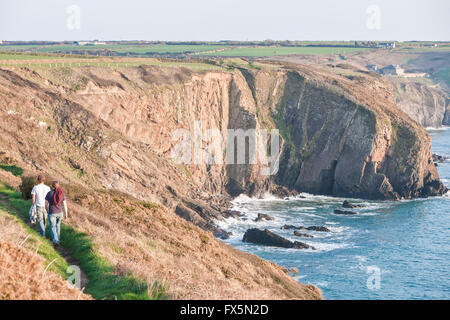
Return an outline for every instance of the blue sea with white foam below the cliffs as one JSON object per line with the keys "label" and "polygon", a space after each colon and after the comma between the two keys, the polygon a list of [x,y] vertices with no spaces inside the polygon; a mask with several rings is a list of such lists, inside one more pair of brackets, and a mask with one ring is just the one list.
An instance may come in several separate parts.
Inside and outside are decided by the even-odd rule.
{"label": "blue sea with white foam below the cliffs", "polygon": [[[450,129],[429,131],[433,152],[450,156]],[[438,166],[450,187],[450,163]],[[304,195],[305,196],[305,195]],[[221,226],[233,232],[226,240],[240,250],[284,267],[297,268],[294,277],[318,286],[326,299],[450,299],[450,194],[412,201],[352,200],[365,207],[356,216],[339,216],[345,199],[306,195],[303,199],[250,199],[240,196],[234,209],[246,221],[230,218]],[[275,221],[253,222],[257,213]],[[299,238],[284,224],[326,226],[331,232],[311,232]],[[263,247],[242,242],[248,228],[267,228],[317,250]]]}

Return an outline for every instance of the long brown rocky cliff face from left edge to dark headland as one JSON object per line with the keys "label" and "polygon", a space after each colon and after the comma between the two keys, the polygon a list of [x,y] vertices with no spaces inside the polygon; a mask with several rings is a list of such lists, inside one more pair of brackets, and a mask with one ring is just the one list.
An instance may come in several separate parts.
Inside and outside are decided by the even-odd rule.
{"label": "long brown rocky cliff face from left edge to dark headland", "polygon": [[[223,195],[259,195],[277,186],[368,199],[445,192],[431,161],[429,136],[398,109],[391,85],[378,76],[345,73],[345,67],[341,71],[276,64],[206,73],[152,66],[113,72],[86,67],[46,74],[21,70],[20,76],[5,71],[3,78],[56,100],[47,102],[48,113],[34,98],[22,98],[30,100],[41,118],[50,117],[49,122],[62,128],[59,135],[87,152],[96,167],[84,172],[93,180],[171,209],[184,198],[212,202],[213,197],[220,206]],[[28,112],[17,101],[11,96],[5,104],[13,113]],[[171,159],[180,143],[173,137],[177,130],[195,139],[199,132],[205,137],[217,129],[221,150],[226,150],[228,129],[261,128],[281,133],[275,175],[260,175],[259,162],[196,161],[195,150],[191,163]],[[204,156],[207,143],[200,141],[199,147]],[[85,161],[72,159],[79,155],[69,157]],[[151,163],[155,161],[156,166]],[[185,182],[180,184],[180,179]],[[216,211],[209,215],[220,216]]]}

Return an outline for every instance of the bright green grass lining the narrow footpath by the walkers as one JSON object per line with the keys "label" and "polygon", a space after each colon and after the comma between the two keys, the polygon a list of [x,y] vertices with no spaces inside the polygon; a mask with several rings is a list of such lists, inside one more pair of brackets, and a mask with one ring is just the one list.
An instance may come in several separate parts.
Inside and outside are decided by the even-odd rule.
{"label": "bright green grass lining the narrow footpath by the walkers", "polygon": [[[4,184],[0,184],[0,195],[7,197],[7,204],[0,204],[0,209],[18,218],[27,231],[38,238],[40,242],[38,253],[50,263],[55,260],[51,268],[67,277],[68,267],[64,258],[59,255],[46,239],[39,238],[38,233],[24,221],[28,219],[30,201],[23,200],[20,193],[15,192]],[[150,299],[147,285],[131,275],[118,276],[113,273],[113,267],[95,252],[92,241],[83,233],[77,232],[67,225],[61,226],[61,244],[79,262],[80,267],[89,278],[86,293],[95,299]],[[155,290],[157,289],[157,290]],[[158,288],[152,290],[153,299],[165,298],[165,293]]]}

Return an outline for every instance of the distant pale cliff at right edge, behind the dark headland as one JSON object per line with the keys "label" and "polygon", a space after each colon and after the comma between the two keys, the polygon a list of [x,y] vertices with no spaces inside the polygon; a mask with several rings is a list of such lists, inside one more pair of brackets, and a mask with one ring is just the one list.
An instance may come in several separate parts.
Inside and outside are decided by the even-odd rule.
{"label": "distant pale cliff at right edge, behind the dark headland", "polygon": [[436,86],[393,81],[395,101],[411,119],[424,127],[439,128],[448,123],[448,98]]}

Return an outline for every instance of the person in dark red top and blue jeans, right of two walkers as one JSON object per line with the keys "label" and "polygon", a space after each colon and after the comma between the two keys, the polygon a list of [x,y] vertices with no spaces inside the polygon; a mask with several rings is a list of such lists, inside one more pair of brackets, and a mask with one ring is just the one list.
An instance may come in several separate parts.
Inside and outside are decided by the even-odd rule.
{"label": "person in dark red top and blue jeans, right of two walkers", "polygon": [[66,219],[69,217],[64,189],[61,188],[58,181],[53,181],[52,190],[45,197],[45,208],[48,212],[53,245],[57,247],[61,240],[63,212],[65,213]]}

